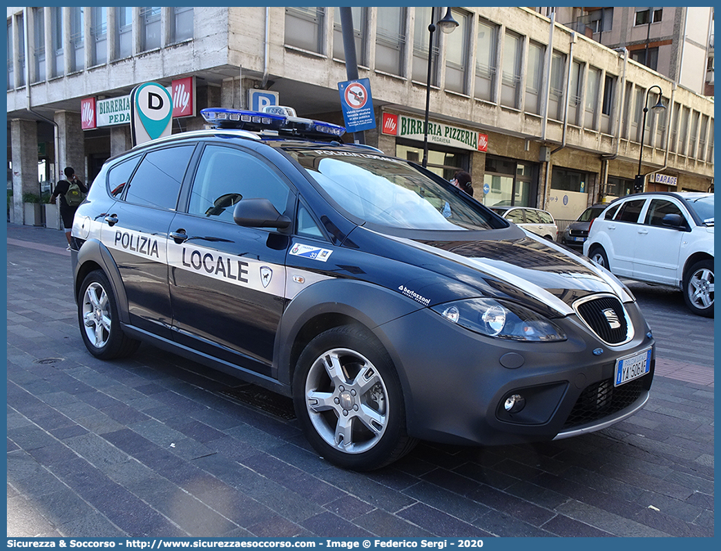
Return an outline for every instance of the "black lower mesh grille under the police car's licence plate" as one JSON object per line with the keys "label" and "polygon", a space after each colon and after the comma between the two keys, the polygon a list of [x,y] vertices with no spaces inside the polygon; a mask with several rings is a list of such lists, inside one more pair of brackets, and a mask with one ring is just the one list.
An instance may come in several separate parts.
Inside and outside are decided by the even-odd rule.
{"label": "black lower mesh grille under the police car's licence plate", "polygon": [[621,411],[638,400],[643,391],[643,379],[634,379],[614,387],[613,379],[588,385],[578,397],[562,430],[593,423]]}

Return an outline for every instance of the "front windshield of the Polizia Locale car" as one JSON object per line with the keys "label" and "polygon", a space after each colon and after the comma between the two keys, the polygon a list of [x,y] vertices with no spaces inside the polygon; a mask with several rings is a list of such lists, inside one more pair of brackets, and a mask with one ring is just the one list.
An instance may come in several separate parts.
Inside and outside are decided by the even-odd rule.
{"label": "front windshield of the Polizia Locale car", "polygon": [[340,208],[356,219],[399,229],[479,230],[503,227],[451,184],[411,164],[371,152],[286,149]]}

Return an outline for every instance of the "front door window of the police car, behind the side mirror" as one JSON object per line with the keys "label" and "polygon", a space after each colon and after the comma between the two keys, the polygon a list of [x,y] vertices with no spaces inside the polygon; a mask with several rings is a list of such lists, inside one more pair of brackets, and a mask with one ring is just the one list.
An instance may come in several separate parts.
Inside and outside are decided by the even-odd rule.
{"label": "front door window of the police car, behind the side mirror", "polygon": [[233,222],[233,206],[243,198],[265,198],[284,213],[291,193],[269,165],[246,151],[210,145],[203,150],[188,213]]}

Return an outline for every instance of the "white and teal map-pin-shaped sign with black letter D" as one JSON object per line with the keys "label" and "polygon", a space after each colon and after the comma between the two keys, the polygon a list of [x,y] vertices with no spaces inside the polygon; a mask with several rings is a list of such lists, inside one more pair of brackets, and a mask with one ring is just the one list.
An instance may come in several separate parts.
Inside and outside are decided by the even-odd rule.
{"label": "white and teal map-pin-shaped sign with black letter D", "polygon": [[156,82],[138,84],[131,92],[131,138],[133,146],[172,131],[173,101],[170,93]]}

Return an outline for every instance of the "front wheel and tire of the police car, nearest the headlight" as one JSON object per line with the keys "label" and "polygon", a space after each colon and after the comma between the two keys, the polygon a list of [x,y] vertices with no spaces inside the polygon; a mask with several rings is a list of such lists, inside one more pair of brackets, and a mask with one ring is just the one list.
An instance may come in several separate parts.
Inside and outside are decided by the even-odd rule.
{"label": "front wheel and tire of the police car, nearest the headlight", "polygon": [[340,467],[378,469],[416,444],[391,358],[360,327],[333,327],[311,340],[293,374],[293,404],[308,441]]}

